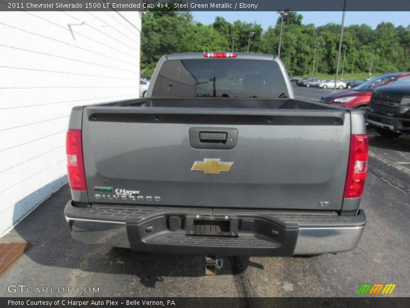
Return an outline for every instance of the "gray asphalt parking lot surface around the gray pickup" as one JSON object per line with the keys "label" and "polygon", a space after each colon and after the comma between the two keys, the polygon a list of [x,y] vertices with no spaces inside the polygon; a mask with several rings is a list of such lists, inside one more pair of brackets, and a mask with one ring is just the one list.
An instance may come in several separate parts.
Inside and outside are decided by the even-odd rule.
{"label": "gray asphalt parking lot surface around the gray pickup", "polygon": [[[295,87],[296,99],[331,90]],[[367,225],[358,247],[312,258],[230,257],[218,276],[204,276],[204,257],[152,255],[71,239],[64,186],[1,240],[32,247],[0,278],[0,296],[356,296],[362,283],[395,283],[410,296],[410,138],[384,139],[371,127],[370,172],[361,207]],[[9,293],[11,284],[98,287],[98,292]]]}

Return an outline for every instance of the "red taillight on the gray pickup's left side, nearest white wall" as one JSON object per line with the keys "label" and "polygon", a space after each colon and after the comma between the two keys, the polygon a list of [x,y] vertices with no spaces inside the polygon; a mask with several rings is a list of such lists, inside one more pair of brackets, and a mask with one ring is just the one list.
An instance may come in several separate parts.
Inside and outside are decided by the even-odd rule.
{"label": "red taillight on the gray pickup's left side, nearest white wall", "polygon": [[67,131],[66,153],[70,187],[77,190],[87,190],[80,129],[69,129]]}

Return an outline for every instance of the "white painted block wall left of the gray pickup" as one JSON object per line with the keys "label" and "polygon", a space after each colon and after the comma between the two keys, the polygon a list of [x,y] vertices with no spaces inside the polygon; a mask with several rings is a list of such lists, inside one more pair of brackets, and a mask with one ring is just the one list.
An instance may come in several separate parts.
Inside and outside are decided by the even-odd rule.
{"label": "white painted block wall left of the gray pickup", "polygon": [[0,12],[0,235],[67,182],[71,108],[138,97],[140,29],[138,12]]}

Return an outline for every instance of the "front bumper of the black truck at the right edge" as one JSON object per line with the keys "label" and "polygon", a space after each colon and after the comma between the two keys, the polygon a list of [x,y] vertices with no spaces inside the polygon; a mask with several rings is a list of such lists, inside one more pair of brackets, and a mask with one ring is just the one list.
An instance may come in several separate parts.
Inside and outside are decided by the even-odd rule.
{"label": "front bumper of the black truck at the right edge", "polygon": [[392,117],[370,110],[372,109],[367,107],[367,110],[364,112],[364,119],[367,123],[393,131],[410,133],[410,119]]}

